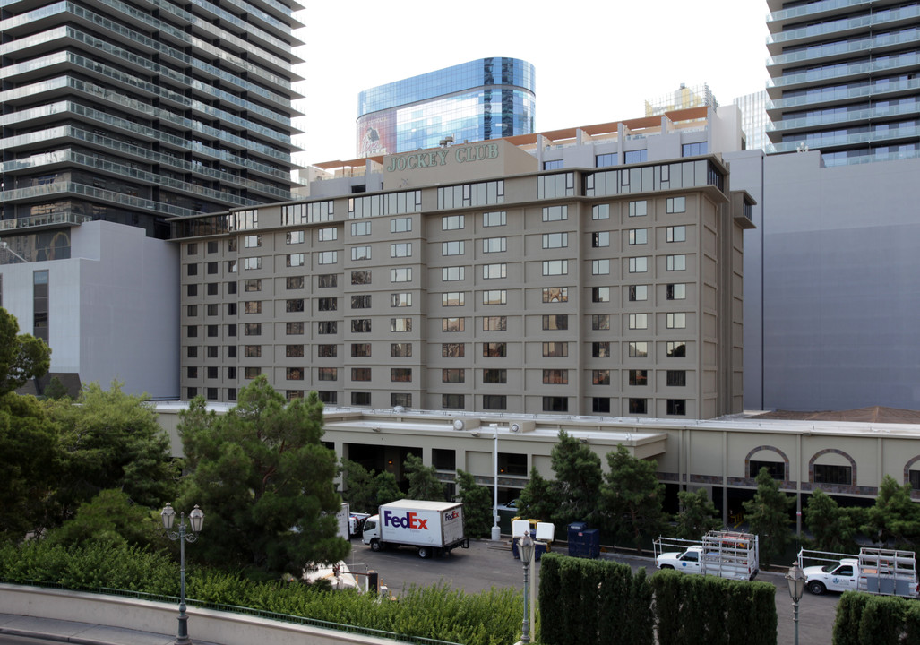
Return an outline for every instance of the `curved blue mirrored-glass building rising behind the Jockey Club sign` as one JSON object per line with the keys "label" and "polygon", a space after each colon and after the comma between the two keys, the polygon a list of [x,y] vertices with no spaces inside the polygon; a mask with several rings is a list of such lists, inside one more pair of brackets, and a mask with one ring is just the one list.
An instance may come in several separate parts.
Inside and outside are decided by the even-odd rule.
{"label": "curved blue mirrored-glass building rising behind the Jockey Club sign", "polygon": [[358,96],[358,155],[534,132],[534,65],[482,58],[372,87]]}

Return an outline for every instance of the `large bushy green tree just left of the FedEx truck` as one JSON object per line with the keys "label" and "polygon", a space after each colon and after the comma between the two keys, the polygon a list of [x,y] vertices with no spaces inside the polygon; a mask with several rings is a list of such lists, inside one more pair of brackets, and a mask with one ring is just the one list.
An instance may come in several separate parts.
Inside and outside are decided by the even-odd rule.
{"label": "large bushy green tree just left of the FedEx truck", "polygon": [[196,397],[179,422],[189,475],[176,506],[200,505],[208,535],[194,551],[224,567],[272,572],[344,558],[336,456],[320,443],[316,392],[287,403],[262,375],[224,416],[204,405]]}

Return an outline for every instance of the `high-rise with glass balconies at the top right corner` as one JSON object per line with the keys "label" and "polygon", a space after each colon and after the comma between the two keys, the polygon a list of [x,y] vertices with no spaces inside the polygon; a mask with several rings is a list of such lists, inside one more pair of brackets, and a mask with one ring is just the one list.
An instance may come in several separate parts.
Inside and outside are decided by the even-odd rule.
{"label": "high-rise with glass balconies at the top right corner", "polygon": [[827,166],[920,155],[920,3],[767,0],[767,152]]}

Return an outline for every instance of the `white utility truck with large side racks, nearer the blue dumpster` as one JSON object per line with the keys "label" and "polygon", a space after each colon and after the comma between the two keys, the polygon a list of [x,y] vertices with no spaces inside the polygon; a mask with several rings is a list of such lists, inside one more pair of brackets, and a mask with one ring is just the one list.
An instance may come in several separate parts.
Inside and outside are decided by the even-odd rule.
{"label": "white utility truck with large side racks, nearer the blue dumpster", "polygon": [[659,537],[652,545],[658,569],[730,580],[753,580],[759,570],[759,541],[749,533],[710,531],[700,540]]}

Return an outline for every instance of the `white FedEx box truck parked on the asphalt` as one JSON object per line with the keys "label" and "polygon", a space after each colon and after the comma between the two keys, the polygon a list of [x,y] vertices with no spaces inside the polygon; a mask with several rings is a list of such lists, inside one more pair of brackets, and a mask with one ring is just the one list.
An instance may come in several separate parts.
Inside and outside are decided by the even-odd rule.
{"label": "white FedEx box truck parked on the asphalt", "polygon": [[399,500],[364,521],[362,542],[374,551],[415,547],[420,558],[469,548],[463,531],[463,504],[455,501]]}

